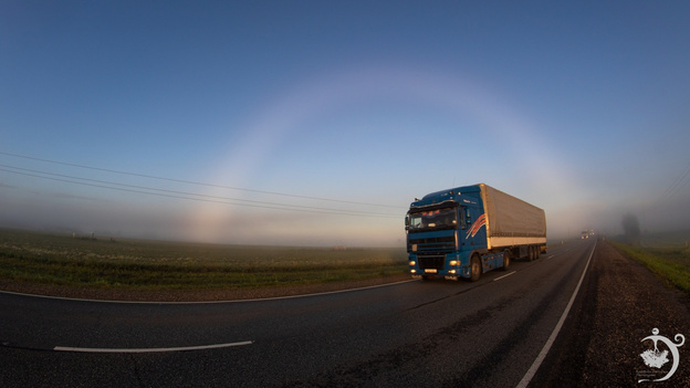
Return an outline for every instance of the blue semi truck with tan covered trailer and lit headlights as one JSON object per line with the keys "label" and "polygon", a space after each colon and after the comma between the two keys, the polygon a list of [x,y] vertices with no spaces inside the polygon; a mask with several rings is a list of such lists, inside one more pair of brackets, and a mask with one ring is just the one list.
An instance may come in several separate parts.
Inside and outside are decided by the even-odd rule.
{"label": "blue semi truck with tan covered trailer and lit headlights", "polygon": [[405,229],[414,279],[474,282],[484,272],[508,270],[513,259],[546,252],[544,210],[484,183],[415,199]]}

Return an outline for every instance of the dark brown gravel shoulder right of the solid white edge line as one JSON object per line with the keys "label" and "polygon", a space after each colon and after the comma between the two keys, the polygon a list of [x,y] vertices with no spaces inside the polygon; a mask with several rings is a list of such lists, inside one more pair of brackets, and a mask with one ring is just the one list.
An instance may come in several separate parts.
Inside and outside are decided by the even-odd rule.
{"label": "dark brown gravel shoulder right of the solid white edge line", "polygon": [[[641,264],[606,241],[597,243],[583,289],[546,361],[531,387],[690,387],[690,302]],[[644,338],[658,328],[678,348],[680,363],[666,381],[672,357],[661,368],[645,365],[640,354],[654,349]],[[667,347],[659,342],[659,350]]]}

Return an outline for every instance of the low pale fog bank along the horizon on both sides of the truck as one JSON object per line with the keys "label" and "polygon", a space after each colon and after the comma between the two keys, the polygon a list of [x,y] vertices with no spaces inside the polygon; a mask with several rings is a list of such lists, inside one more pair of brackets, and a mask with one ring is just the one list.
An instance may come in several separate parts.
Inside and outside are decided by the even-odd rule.
{"label": "low pale fog bank along the horizon on both sides of the truck", "polygon": [[[582,201],[543,207],[551,241],[579,237],[583,230],[616,237],[625,222],[649,233],[690,231],[688,188],[659,200]],[[107,192],[106,192],[107,193]],[[252,209],[190,200],[80,196],[50,189],[27,191],[1,185],[0,227],[103,238],[201,241],[234,244],[405,247],[404,218],[409,202],[399,199],[399,217],[344,216]],[[379,202],[381,201],[380,198]],[[535,205],[539,203],[532,201]],[[661,200],[662,199],[662,200]],[[411,201],[411,198],[410,198]],[[627,218],[628,221],[625,221]]]}

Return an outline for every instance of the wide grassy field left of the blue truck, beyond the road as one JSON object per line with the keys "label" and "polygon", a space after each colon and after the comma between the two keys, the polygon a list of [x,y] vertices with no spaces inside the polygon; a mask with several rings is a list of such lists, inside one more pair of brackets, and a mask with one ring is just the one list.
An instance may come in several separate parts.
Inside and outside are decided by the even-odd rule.
{"label": "wide grassy field left of the blue truck, beyond the road", "polygon": [[399,249],[243,247],[0,229],[0,279],[128,290],[302,285],[406,273]]}

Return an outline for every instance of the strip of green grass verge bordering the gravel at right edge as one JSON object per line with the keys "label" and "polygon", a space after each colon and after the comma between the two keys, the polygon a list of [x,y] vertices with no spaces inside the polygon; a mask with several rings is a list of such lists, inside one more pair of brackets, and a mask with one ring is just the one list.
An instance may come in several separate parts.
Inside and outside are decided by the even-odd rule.
{"label": "strip of green grass verge bordering the gravel at right edge", "polygon": [[690,296],[690,250],[679,247],[631,247],[609,242],[628,258],[644,264],[657,276]]}

